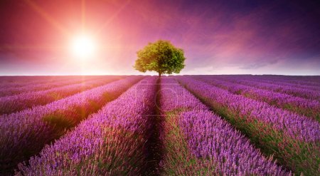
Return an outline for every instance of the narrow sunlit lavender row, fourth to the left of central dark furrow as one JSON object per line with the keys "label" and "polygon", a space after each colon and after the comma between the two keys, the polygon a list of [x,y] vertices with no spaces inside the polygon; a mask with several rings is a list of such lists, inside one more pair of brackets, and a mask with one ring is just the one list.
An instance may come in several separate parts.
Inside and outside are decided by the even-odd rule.
{"label": "narrow sunlit lavender row, fourth to the left of central dark furrow", "polygon": [[[114,76],[107,76],[112,78]],[[58,87],[63,87],[63,86],[68,86],[72,84],[79,84],[79,83],[86,83],[89,81],[95,81],[97,79],[101,79],[100,77],[97,78],[74,78],[70,80],[64,80],[64,81],[55,81],[55,82],[49,82],[49,83],[38,83],[38,84],[31,84],[28,86],[22,86],[22,87],[11,87],[11,88],[0,88],[0,97],[4,96],[9,96],[9,95],[16,95],[16,94],[21,94],[21,93],[30,93],[30,92],[35,92],[35,91],[40,91],[40,90],[49,90],[52,88],[58,88]],[[105,79],[105,78],[102,78]]]}

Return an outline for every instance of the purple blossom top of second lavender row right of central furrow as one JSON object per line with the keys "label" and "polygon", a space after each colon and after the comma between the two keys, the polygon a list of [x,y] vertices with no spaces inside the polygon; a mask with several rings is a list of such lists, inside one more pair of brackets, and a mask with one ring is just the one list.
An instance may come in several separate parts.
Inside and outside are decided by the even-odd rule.
{"label": "purple blossom top of second lavender row right of central furrow", "polygon": [[306,142],[320,140],[320,124],[316,120],[275,108],[264,102],[245,98],[242,95],[235,95],[228,92],[228,90],[223,90],[186,76],[179,76],[178,81],[181,81],[187,88],[192,88],[201,97],[208,98],[208,100],[217,100],[220,105],[240,110],[240,113],[247,115],[247,118],[258,118],[263,123],[269,123],[274,129],[283,130],[284,133],[292,138],[305,140]]}

